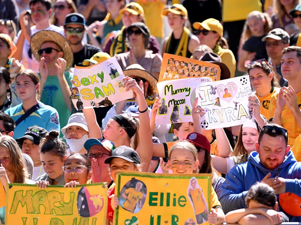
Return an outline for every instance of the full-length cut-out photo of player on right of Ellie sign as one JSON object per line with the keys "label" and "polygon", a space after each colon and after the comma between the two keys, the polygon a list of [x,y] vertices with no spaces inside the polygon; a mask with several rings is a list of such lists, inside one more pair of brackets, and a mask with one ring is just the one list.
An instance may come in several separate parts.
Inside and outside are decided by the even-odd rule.
{"label": "full-length cut-out photo of player on right of Ellie sign", "polygon": [[206,202],[205,196],[203,195],[203,190],[197,183],[197,179],[192,177],[190,179],[190,185],[187,188],[188,197],[191,200],[192,206],[194,208],[195,219],[197,224],[204,223],[208,220],[207,213],[208,204]]}

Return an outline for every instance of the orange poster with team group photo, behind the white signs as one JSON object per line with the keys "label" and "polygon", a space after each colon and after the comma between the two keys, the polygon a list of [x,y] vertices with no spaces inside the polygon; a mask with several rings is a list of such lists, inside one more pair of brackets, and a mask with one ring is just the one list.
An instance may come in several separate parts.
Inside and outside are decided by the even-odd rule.
{"label": "orange poster with team group photo, behind the white signs", "polygon": [[212,81],[220,80],[219,65],[178,55],[163,54],[159,81],[206,76]]}

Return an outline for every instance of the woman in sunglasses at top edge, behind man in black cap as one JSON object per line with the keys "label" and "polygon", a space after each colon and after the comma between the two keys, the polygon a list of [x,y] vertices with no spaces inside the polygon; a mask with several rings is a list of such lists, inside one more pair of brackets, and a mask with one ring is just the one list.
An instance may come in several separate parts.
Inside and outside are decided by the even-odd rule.
{"label": "woman in sunglasses at top edge, behind man in black cap", "polygon": [[76,5],[72,0],[56,0],[53,6],[54,16],[51,24],[59,27],[63,27],[65,23],[65,17],[69,13],[77,13]]}

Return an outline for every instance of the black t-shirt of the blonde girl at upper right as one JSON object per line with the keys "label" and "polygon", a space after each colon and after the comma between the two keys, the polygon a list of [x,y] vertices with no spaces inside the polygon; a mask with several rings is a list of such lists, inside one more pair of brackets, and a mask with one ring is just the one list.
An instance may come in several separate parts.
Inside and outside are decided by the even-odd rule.
{"label": "black t-shirt of the blonde girl at upper right", "polygon": [[265,49],[265,43],[263,41],[261,41],[261,39],[264,37],[265,35],[261,36],[261,37],[254,37],[251,36],[245,43],[243,46],[243,49],[245,51],[248,52],[256,52],[255,58],[253,59],[258,60],[258,59],[262,59],[265,58],[266,60],[268,60],[268,54],[266,53],[266,49]]}

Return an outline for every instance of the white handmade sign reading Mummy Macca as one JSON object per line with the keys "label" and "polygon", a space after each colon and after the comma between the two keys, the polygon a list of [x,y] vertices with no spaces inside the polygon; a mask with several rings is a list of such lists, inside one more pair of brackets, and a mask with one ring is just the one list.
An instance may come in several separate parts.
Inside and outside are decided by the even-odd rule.
{"label": "white handmade sign reading Mummy Macca", "polygon": [[196,99],[197,84],[211,82],[210,77],[175,79],[157,83],[161,107],[156,124],[192,122],[191,109]]}

